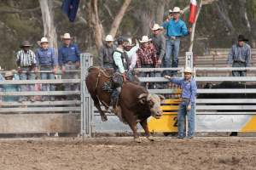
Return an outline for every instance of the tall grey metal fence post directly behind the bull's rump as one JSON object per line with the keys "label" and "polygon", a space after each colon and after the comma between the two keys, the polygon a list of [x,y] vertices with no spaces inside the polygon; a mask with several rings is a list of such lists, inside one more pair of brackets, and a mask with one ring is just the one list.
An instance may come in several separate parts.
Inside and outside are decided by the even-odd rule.
{"label": "tall grey metal fence post directly behind the bull's rump", "polygon": [[93,102],[85,84],[85,77],[88,74],[88,68],[93,64],[92,55],[84,53],[80,55],[81,62],[81,135],[84,138],[91,137]]}

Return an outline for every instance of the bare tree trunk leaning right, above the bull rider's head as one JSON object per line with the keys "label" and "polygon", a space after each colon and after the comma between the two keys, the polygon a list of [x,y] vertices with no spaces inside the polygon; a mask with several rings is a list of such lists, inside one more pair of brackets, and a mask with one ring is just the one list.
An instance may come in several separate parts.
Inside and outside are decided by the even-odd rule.
{"label": "bare tree trunk leaning right, above the bull rider's head", "polygon": [[125,11],[129,7],[130,3],[131,3],[131,0],[125,0],[125,2],[123,3],[122,7],[119,10],[119,13],[115,16],[111,26],[111,30],[109,31],[109,34],[112,35],[113,37],[115,37],[118,31],[120,23],[123,20],[123,17],[125,15]]}

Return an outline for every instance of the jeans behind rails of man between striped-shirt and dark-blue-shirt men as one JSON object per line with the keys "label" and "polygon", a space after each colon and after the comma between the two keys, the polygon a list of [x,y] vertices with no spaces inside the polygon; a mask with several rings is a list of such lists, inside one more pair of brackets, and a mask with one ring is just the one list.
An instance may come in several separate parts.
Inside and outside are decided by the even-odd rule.
{"label": "jeans behind rails of man between striped-shirt and dark-blue-shirt men", "polygon": [[[42,65],[40,67],[40,71],[52,71],[53,67],[52,66],[44,66]],[[41,73],[41,79],[42,80],[55,80],[55,75],[53,72],[42,72]],[[43,91],[48,91],[47,88],[49,86],[50,91],[55,91],[55,85],[54,84],[42,84],[42,90]]]}

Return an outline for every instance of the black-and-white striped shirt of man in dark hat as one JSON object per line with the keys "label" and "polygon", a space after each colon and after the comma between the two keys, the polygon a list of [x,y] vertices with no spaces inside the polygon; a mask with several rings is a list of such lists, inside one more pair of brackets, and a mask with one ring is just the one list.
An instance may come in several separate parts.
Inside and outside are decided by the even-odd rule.
{"label": "black-and-white striped shirt of man in dark hat", "polygon": [[21,67],[35,65],[37,63],[36,55],[30,49],[27,51],[24,51],[23,49],[21,49],[16,54],[16,63],[18,66],[21,66]]}

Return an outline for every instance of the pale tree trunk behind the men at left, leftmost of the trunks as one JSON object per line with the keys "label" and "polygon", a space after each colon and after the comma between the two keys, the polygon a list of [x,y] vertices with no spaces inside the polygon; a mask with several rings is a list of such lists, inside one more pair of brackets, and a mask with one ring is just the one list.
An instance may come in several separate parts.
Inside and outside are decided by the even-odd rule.
{"label": "pale tree trunk behind the men at left, leftmost of the trunks", "polygon": [[[44,22],[44,37],[48,38],[49,47],[58,49],[57,45],[57,35],[54,25],[54,12],[53,1],[51,0],[39,0],[40,8],[42,11],[42,18]],[[57,50],[55,50],[57,53]]]}

